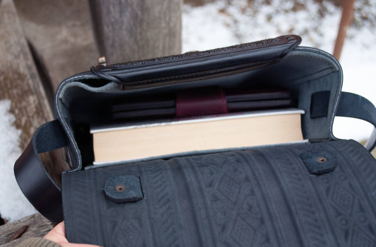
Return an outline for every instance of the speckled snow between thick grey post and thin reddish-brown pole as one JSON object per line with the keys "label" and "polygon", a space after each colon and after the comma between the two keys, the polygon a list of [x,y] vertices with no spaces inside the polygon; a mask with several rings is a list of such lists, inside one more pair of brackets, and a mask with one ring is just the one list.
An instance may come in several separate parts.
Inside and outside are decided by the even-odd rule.
{"label": "speckled snow between thick grey post and thin reddish-brown pole", "polygon": [[[200,7],[183,7],[183,52],[248,43],[283,34],[302,36],[303,46],[332,50],[340,8],[307,0],[218,0]],[[304,7],[305,6],[305,7]],[[296,11],[291,11],[296,9]],[[325,9],[325,10],[323,10]],[[325,12],[323,17],[320,12]]]}

